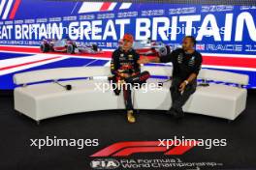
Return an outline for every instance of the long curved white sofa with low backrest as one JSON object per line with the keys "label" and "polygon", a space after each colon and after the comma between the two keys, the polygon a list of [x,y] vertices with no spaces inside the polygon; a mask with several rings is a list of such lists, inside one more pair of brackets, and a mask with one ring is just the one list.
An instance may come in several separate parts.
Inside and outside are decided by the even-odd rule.
{"label": "long curved white sofa with low backrest", "polygon": [[[148,66],[143,67],[143,70],[149,71],[151,75],[172,76],[172,67]],[[115,96],[111,89],[103,92],[95,85],[109,84],[109,75],[109,67],[60,68],[17,73],[14,81],[20,86],[14,91],[15,109],[38,123],[51,117],[79,112],[124,109],[122,94]],[[248,83],[247,75],[227,71],[202,70],[198,78],[240,85]],[[66,80],[62,81],[63,79]],[[72,85],[72,90],[66,91],[56,81]],[[164,83],[162,87],[147,88],[145,92],[146,87],[159,81],[164,80],[149,78],[144,88],[134,91],[135,109],[168,110],[171,107],[171,81]],[[235,120],[245,109],[246,96],[244,88],[210,83],[206,87],[198,86],[183,109],[188,113]]]}

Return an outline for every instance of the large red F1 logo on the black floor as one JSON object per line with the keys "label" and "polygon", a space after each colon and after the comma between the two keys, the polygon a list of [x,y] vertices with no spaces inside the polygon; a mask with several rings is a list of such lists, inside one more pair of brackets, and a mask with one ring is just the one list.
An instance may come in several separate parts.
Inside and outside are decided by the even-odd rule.
{"label": "large red F1 logo on the black floor", "polygon": [[171,148],[170,145],[167,147],[167,141],[162,142],[162,145],[159,144],[159,141],[118,142],[93,154],[92,157],[131,156],[138,153],[164,153],[166,156],[183,155],[196,146],[196,143],[176,146],[176,141],[173,142]]}

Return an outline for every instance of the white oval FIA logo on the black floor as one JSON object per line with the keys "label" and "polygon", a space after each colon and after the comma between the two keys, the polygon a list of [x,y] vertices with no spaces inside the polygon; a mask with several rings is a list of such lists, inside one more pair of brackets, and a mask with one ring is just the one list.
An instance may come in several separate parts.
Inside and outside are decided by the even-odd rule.
{"label": "white oval FIA logo on the black floor", "polygon": [[120,163],[113,158],[97,158],[90,162],[93,169],[115,169],[120,166]]}

